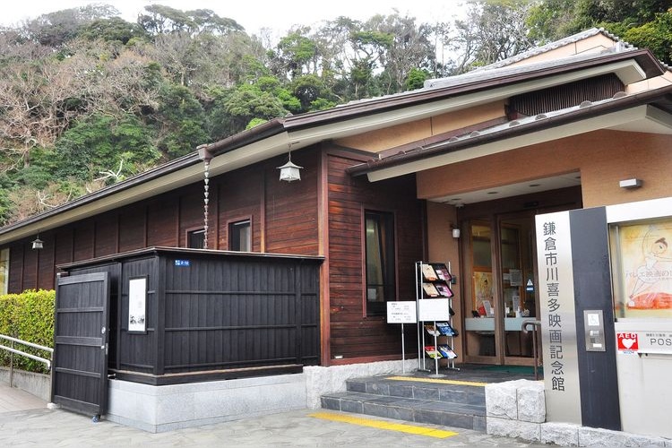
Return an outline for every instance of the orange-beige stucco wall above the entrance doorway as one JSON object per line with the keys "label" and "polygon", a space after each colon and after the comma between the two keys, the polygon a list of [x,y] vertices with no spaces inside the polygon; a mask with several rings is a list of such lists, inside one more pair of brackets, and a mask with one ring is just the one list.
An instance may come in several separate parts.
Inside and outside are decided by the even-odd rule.
{"label": "orange-beige stucco wall above the entrance doorway", "polygon": [[[581,172],[583,206],[667,197],[672,193],[672,135],[597,131],[418,173],[418,197],[490,188]],[[620,180],[643,186],[623,189]]]}

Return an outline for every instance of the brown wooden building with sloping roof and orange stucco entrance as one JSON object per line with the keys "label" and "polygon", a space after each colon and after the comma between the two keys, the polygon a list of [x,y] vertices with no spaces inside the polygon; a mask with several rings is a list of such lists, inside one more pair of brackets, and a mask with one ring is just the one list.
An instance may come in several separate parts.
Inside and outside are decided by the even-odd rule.
{"label": "brown wooden building with sloping roof and orange stucco entrance", "polygon": [[[5,290],[204,241],[226,256],[321,257],[319,365],[334,366],[400,359],[385,302],[415,300],[416,262],[451,262],[460,359],[530,365],[507,319],[539,313],[534,216],[668,197],[671,93],[648,50],[588,30],[423,89],[274,119],[1,228]],[[289,153],[300,181],[279,180]],[[630,178],[645,181],[619,187]],[[484,291],[488,329],[474,326]]]}

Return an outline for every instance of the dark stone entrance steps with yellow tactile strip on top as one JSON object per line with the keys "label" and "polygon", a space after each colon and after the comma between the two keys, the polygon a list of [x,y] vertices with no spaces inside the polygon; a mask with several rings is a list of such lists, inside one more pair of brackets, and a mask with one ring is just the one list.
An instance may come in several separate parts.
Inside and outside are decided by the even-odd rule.
{"label": "dark stone entrance steps with yellow tactile strip on top", "polygon": [[351,379],[323,409],[486,431],[485,383],[405,376]]}

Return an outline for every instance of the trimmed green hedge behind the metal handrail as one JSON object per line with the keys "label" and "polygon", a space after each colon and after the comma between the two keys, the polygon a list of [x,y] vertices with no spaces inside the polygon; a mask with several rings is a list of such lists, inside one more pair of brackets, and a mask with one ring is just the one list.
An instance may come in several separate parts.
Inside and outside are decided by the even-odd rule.
{"label": "trimmed green hedge behind the metal handrail", "polygon": [[[54,303],[56,291],[26,290],[22,294],[0,296],[0,334],[26,340],[46,347],[54,347]],[[9,340],[0,339],[0,345],[11,347]],[[47,358],[44,350],[16,346],[16,349]],[[9,366],[10,353],[0,349],[0,364]],[[14,367],[30,372],[48,373],[47,366],[30,358],[14,355]]]}

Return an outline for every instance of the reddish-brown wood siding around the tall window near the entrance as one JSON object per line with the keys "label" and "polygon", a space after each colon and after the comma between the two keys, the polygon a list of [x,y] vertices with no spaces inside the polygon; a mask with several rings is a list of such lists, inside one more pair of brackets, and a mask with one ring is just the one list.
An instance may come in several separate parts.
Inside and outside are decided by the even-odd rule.
{"label": "reddish-brown wood siding around the tall window near the entrance", "polygon": [[415,300],[413,266],[422,258],[424,245],[415,177],[370,184],[366,177],[345,173],[345,168],[357,163],[359,159],[343,155],[328,156],[331,350],[332,356],[343,358],[400,352],[399,328],[385,323],[384,316],[366,316],[363,211],[394,214],[399,300]]}

